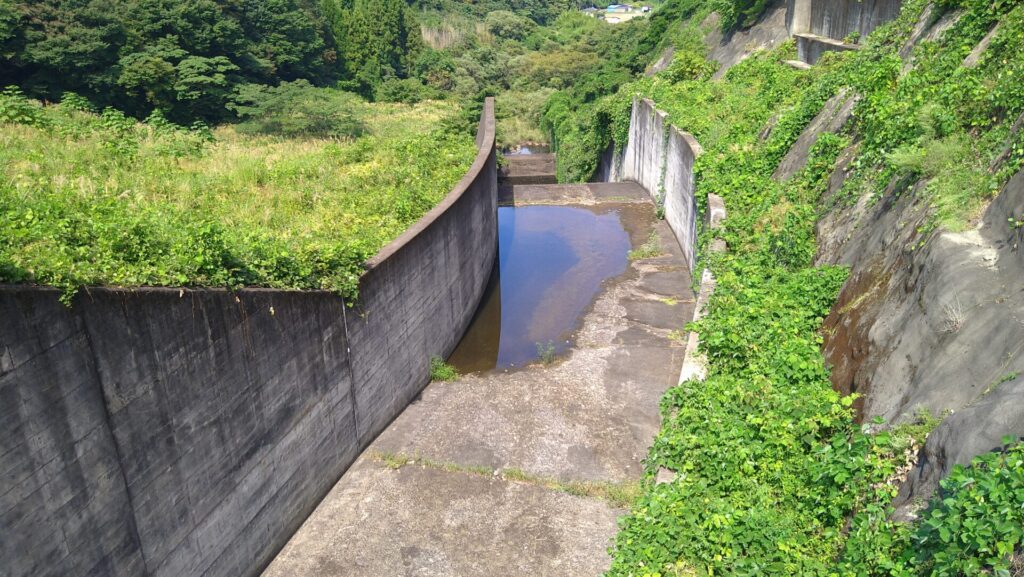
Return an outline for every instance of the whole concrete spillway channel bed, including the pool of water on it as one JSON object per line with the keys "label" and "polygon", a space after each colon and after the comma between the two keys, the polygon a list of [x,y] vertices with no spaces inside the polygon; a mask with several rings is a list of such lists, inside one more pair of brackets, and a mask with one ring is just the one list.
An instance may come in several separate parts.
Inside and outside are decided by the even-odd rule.
{"label": "whole concrete spillway channel bed, including the pool of water on it", "polygon": [[607,568],[694,299],[646,191],[553,184],[553,161],[504,169],[499,265],[451,359],[469,374],[430,384],[265,577]]}

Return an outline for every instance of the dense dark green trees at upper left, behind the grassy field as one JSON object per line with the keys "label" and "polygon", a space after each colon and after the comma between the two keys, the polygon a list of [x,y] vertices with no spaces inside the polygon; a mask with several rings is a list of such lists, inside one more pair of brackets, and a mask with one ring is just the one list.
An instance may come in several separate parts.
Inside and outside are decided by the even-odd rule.
{"label": "dense dark green trees at upper left, behind the grassy field", "polygon": [[250,84],[338,81],[364,95],[414,76],[423,43],[404,0],[0,0],[0,78],[179,123],[230,119]]}

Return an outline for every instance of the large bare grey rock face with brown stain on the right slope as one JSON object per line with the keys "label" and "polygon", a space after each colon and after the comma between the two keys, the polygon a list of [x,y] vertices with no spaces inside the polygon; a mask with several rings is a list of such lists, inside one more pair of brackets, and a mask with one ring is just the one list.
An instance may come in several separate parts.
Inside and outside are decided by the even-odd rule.
{"label": "large bare grey rock face with brown stain on the right slope", "polygon": [[818,224],[818,261],[851,269],[824,323],[824,354],[836,388],[861,395],[863,419],[946,415],[901,500],[928,497],[953,464],[1024,437],[1024,250],[1008,222],[1024,213],[1024,173],[976,228],[924,236],[926,183],[894,181],[878,204],[845,206],[849,158],[825,201],[839,206]]}

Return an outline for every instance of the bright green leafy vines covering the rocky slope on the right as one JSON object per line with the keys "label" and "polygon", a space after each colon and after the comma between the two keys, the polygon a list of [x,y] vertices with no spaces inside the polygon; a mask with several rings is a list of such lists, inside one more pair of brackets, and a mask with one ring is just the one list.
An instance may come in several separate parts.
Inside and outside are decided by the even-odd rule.
{"label": "bright green leafy vines covering the rocky slope on the right", "polygon": [[[856,155],[847,198],[902,194],[924,179],[918,194],[932,218],[922,242],[936,228],[969,225],[1024,166],[1022,136],[1009,129],[1024,113],[1024,63],[1006,56],[1024,49],[1024,6],[945,2],[962,16],[943,37],[920,43],[915,66],[904,71],[898,50],[925,5],[906,2],[896,22],[858,38],[862,50],[828,54],[813,70],[784,64],[795,57],[787,43],[716,81],[699,23],[721,4],[677,0],[648,25],[617,32],[623,54],[608,68],[549,98],[544,122],[561,180],[588,178],[600,151],[625,142],[630,104],[642,95],[705,149],[698,199],[716,193],[729,207],[719,232],[729,252],[702,262],[718,279],[695,326],[708,378],[663,400],[644,493],[623,522],[609,575],[1006,574],[1019,550],[1019,448],[958,469],[923,521],[886,521],[908,459],[937,419],[861,429],[854,399],[831,389],[819,351],[822,319],[847,274],[812,264],[820,197],[841,152]],[[761,9],[734,6],[734,15],[753,9],[737,24]],[[962,66],[996,22],[977,66]],[[669,69],[633,80],[640,67],[630,47],[644,47],[649,59],[666,44],[677,48]],[[620,73],[630,80],[616,82]],[[786,182],[772,179],[803,128],[842,90],[859,95],[850,132],[821,135],[806,168]],[[674,483],[653,484],[663,466],[679,473]],[[985,492],[971,493],[968,480],[982,476]],[[989,492],[998,504],[971,508]],[[1007,503],[1017,507],[1010,524]]]}

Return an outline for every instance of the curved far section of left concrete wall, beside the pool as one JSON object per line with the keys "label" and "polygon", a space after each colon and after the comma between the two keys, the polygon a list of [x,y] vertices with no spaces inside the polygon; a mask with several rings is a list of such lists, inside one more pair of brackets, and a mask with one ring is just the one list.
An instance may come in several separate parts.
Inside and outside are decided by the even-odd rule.
{"label": "curved far section of left concrete wall, beside the pool", "polygon": [[371,258],[348,319],[355,419],[365,447],[426,386],[431,357],[466,332],[498,255],[494,100],[478,153],[443,201]]}

